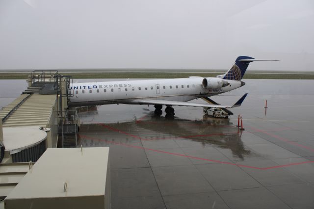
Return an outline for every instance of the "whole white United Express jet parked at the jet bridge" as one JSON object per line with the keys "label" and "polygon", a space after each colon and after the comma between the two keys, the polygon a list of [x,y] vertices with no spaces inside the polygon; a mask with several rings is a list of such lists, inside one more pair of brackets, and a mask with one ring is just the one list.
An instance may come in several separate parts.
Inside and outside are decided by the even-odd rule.
{"label": "whole white United Express jet parked at the jet bridge", "polygon": [[[162,106],[166,106],[167,114],[174,114],[172,106],[200,106],[233,108],[240,106],[247,94],[244,94],[234,105],[220,105],[208,97],[222,94],[239,88],[245,83],[241,81],[250,62],[277,61],[254,59],[239,56],[233,67],[216,78],[189,77],[150,80],[124,80],[108,82],[87,82],[71,84],[73,92],[69,106],[102,105],[102,104],[152,104],[155,114],[162,114]],[[197,98],[208,99],[211,104],[188,102]]]}

